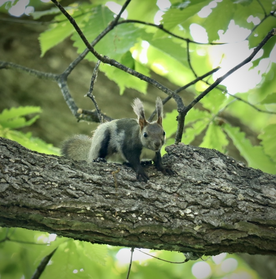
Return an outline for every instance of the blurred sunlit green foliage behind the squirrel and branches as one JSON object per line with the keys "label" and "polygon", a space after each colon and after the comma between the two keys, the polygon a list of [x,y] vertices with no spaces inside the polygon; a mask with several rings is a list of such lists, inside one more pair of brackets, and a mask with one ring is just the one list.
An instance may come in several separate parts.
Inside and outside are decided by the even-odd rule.
{"label": "blurred sunlit green foliage behind the squirrel and branches", "polygon": [[[89,41],[106,28],[123,3],[61,1]],[[61,73],[85,49],[73,26],[51,2],[18,0],[1,1],[0,5],[1,60]],[[132,0],[122,19],[133,22],[119,24],[95,49],[172,90],[221,67],[180,93],[188,105],[209,83],[247,58],[276,27],[275,10],[272,0]],[[157,28],[137,22],[141,20],[161,25]],[[249,167],[276,173],[275,41],[276,36],[253,61],[189,111],[182,142],[214,148]],[[73,98],[85,109],[93,108],[83,95],[88,91],[95,62],[95,57],[88,54],[69,79]],[[1,70],[0,79],[1,137],[58,155],[61,140],[73,133],[89,134],[97,125],[76,124],[54,83],[12,70]],[[112,118],[134,117],[130,106],[134,97],[144,101],[147,115],[157,95],[166,97],[144,81],[104,64],[100,65],[94,95],[101,110]],[[166,144],[171,144],[176,132],[174,101],[170,100],[164,110]],[[0,228],[1,279],[31,278],[41,259],[57,247],[41,278],[125,278],[127,274],[129,248],[73,241],[22,228]],[[173,262],[184,260],[181,253],[149,253]],[[262,278],[272,278],[275,267],[274,260],[274,268],[264,264],[258,271]],[[236,255],[171,264],[135,250],[130,278],[157,277],[260,278]]]}

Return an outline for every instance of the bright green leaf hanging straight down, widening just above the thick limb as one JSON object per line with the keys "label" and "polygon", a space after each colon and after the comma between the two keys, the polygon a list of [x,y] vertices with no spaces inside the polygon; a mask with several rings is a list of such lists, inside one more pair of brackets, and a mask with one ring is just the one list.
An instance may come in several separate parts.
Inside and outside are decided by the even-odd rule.
{"label": "bright green leaf hanging straight down, widening just above the thick limb", "polygon": [[225,153],[225,148],[228,143],[229,141],[226,138],[226,135],[223,132],[221,126],[218,126],[214,122],[211,122],[208,126],[205,136],[203,137],[203,142],[200,144],[200,147],[216,149],[220,152]]}

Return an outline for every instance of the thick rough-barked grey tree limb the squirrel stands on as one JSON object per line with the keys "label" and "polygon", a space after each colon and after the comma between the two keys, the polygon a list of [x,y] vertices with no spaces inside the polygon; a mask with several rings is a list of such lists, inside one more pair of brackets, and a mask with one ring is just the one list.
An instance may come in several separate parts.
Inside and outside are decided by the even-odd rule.
{"label": "thick rough-barked grey tree limb the squirrel stands on", "polygon": [[216,150],[166,148],[176,176],[77,162],[0,138],[0,226],[111,245],[276,255],[276,176]]}

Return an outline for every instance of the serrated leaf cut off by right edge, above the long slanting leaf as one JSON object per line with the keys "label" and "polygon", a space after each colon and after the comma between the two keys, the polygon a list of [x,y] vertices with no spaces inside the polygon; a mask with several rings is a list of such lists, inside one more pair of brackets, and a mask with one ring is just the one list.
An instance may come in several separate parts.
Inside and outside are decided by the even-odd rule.
{"label": "serrated leaf cut off by right edge, above the long slanting leaf", "polygon": [[266,126],[258,138],[262,140],[261,144],[265,150],[265,154],[276,163],[276,124]]}

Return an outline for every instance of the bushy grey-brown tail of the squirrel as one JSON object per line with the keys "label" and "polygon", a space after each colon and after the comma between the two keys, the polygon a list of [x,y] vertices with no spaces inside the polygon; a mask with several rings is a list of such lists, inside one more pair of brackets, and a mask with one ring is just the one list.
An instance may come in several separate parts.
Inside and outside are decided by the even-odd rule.
{"label": "bushy grey-brown tail of the squirrel", "polygon": [[86,135],[74,135],[62,142],[60,153],[73,160],[88,161],[91,143],[91,138]]}

